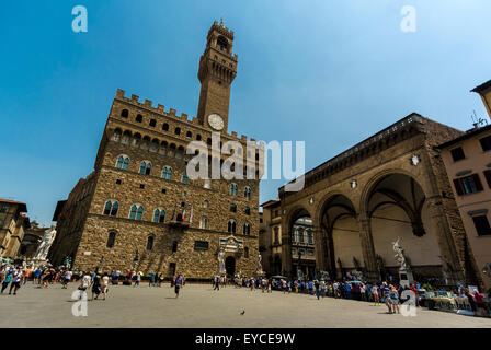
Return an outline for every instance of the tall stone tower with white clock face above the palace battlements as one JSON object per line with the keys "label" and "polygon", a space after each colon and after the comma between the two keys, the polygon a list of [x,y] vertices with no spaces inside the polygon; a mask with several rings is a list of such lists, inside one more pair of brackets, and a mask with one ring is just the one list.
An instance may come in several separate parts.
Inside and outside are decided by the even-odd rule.
{"label": "tall stone tower with white clock face above the palace battlements", "polygon": [[232,55],[233,31],[224,22],[213,23],[206,48],[199,59],[197,77],[202,83],[197,117],[199,122],[226,133],[230,103],[230,85],[237,74],[237,55]]}

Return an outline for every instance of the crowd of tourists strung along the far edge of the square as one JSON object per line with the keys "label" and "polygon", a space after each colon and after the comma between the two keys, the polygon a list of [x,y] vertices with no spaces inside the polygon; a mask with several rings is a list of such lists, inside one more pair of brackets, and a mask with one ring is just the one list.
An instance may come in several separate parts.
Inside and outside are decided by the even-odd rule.
{"label": "crowd of tourists strung along the far edge of the square", "polygon": [[[49,288],[52,284],[61,284],[62,289],[68,289],[72,281],[78,282],[78,290],[92,293],[91,301],[98,300],[102,294],[103,300],[107,298],[110,284],[123,284],[139,287],[142,279],[142,272],[128,270],[123,275],[119,270],[99,273],[94,271],[72,271],[68,268],[55,269],[52,266],[25,268],[22,266],[4,265],[0,268],[1,293],[8,290],[9,294],[16,295],[22,285],[27,280],[32,280],[38,288]],[[148,287],[161,287],[164,281],[162,272],[149,272]],[[318,300],[323,298],[347,299],[374,303],[375,306],[385,304],[389,314],[400,313],[400,305],[412,298],[413,304],[420,306],[419,293],[421,285],[418,282],[411,285],[402,287],[389,282],[364,283],[361,281],[323,281],[323,280],[287,280],[286,278],[266,278],[266,277],[246,277],[236,275],[233,278],[216,275],[213,277],[213,288],[219,291],[220,287],[233,284],[235,288],[247,288],[251,291],[261,290],[262,293],[272,293],[273,290],[283,293],[306,293],[316,296]],[[185,284],[185,278],[182,275],[173,276],[170,280],[171,288],[174,288],[175,298]],[[10,285],[10,288],[9,288]],[[408,293],[404,291],[411,291]],[[479,316],[489,316],[489,310],[484,302],[484,296],[479,291],[470,291],[467,288],[459,288],[452,291],[454,296],[466,301],[470,305],[473,314]]]}

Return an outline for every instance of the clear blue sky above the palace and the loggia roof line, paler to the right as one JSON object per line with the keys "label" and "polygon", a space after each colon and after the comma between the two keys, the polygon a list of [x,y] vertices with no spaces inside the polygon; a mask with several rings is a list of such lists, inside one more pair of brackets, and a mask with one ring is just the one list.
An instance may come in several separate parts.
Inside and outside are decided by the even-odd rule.
{"label": "clear blue sky above the palace and the loggia roof line, paler to the right", "polygon": [[[78,4],[88,33],[71,31]],[[229,131],[305,140],[307,170],[411,112],[459,129],[486,116],[469,90],[491,79],[487,0],[2,1],[0,197],[49,223],[92,171],[117,88],[195,116],[220,18],[239,55]],[[263,182],[261,202],[283,183]]]}

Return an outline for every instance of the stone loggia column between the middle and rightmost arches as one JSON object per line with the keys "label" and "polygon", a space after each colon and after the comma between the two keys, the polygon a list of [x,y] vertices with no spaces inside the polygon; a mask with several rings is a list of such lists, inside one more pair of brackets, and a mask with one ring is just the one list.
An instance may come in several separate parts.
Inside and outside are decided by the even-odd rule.
{"label": "stone loggia column between the middle and rightmost arches", "polygon": [[370,282],[377,282],[380,280],[380,273],[377,268],[370,218],[367,213],[361,213],[356,220],[359,228],[363,260],[365,261],[365,277]]}

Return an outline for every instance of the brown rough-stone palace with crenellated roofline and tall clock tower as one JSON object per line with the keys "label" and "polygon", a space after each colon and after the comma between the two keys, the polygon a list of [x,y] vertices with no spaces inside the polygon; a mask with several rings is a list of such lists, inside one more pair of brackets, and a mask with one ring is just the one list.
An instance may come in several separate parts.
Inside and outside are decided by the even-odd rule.
{"label": "brown rough-stone palace with crenellated roofline and tall clock tower", "polygon": [[[215,22],[199,62],[202,91],[198,115],[192,120],[117,90],[94,172],[57,207],[54,264],[71,256],[80,269],[126,271],[136,265],[144,272],[209,278],[218,272],[221,247],[228,273],[254,272],[259,180],[192,179],[186,173],[194,156],[185,152],[189,143],[202,141],[212,154],[212,132],[216,132],[224,144],[242,144],[244,158],[250,158],[244,167],[253,167],[258,175],[259,153],[247,148],[248,141],[255,144],[255,140],[227,132],[238,59],[232,42],[233,32]],[[214,120],[208,120],[210,115]],[[228,156],[221,154],[221,162]]]}

